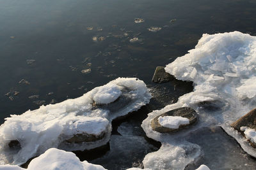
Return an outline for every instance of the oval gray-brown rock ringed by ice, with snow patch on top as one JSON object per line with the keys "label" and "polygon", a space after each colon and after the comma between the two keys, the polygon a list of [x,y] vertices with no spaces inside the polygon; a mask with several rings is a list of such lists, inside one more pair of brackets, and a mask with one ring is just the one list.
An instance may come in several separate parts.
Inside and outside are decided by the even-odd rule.
{"label": "oval gray-brown rock ringed by ice, with snow patch on top", "polygon": [[[158,118],[159,117],[166,117],[166,116],[173,116],[173,117],[185,117],[189,119],[189,124],[188,125],[180,125],[179,129],[169,129],[167,127],[162,127],[159,122]],[[155,117],[151,121],[151,127],[154,131],[157,132],[175,132],[179,131],[180,129],[183,129],[184,127],[188,127],[189,125],[195,124],[197,120],[196,116],[196,111],[193,110],[192,108],[177,108],[175,110],[168,111],[166,113],[163,113],[162,115],[159,115]]]}

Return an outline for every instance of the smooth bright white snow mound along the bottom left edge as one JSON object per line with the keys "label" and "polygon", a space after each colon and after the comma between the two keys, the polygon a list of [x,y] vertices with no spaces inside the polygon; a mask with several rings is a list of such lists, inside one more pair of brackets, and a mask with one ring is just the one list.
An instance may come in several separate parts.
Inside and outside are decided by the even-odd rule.
{"label": "smooth bright white snow mound along the bottom left edge", "polygon": [[[0,166],[3,170],[25,170],[19,166],[4,165]],[[65,152],[56,148],[50,148],[39,157],[31,160],[28,170],[106,170],[104,167],[90,164],[86,160],[80,162],[76,155],[72,152]]]}

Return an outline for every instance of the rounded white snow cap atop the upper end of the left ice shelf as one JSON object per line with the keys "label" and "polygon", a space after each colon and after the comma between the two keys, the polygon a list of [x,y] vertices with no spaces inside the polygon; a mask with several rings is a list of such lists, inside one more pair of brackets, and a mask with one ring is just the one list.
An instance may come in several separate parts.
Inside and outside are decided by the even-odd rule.
{"label": "rounded white snow cap atop the upper end of the left ice shelf", "polygon": [[103,87],[97,87],[93,89],[93,92],[95,92],[95,94],[93,94],[93,101],[95,101],[96,104],[112,103],[122,93],[117,85],[105,85]]}

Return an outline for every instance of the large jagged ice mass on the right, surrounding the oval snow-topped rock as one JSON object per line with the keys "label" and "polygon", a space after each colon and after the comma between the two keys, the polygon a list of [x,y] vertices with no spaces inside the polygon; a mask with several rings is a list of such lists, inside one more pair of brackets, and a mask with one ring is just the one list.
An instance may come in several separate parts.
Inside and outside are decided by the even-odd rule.
{"label": "large jagged ice mass on the right, surrounding the oval snow-topped rock", "polygon": [[[185,141],[185,136],[200,127],[219,125],[230,136],[236,138],[243,150],[256,157],[256,149],[252,148],[230,124],[242,117],[256,106],[256,37],[241,32],[225,32],[220,34],[203,34],[195,49],[178,57],[165,67],[167,73],[178,80],[193,81],[194,91],[179,97],[179,101],[170,104],[162,110],[148,113],[142,127],[149,138],[161,141],[163,146],[155,153],[149,153],[143,160],[145,167],[150,167],[148,157],[159,157],[157,160],[163,169],[184,169],[184,165],[173,167],[167,159],[196,161],[195,155],[164,153],[164,148],[172,150],[184,149],[189,152],[189,146],[194,146],[194,152],[200,157],[200,146]],[[150,122],[153,118],[167,111],[190,107],[198,113],[198,123],[176,133],[159,133],[152,130]],[[184,143],[180,146],[180,143]],[[163,152],[162,152],[163,150]],[[189,162],[188,161],[188,162]],[[188,163],[187,162],[187,163]],[[177,164],[179,165],[179,164]],[[153,168],[157,169],[157,168]]]}

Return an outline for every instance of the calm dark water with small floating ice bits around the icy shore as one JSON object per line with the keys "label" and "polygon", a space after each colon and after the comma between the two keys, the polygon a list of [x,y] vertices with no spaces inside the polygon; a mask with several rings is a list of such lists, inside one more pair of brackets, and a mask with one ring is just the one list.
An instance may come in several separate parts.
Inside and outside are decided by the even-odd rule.
{"label": "calm dark water with small floating ice bits around the icy shore", "polygon": [[[109,169],[141,164],[159,148],[145,137],[141,121],[193,90],[180,81],[155,85],[156,66],[187,53],[204,33],[256,36],[255,9],[253,0],[0,0],[0,124],[10,114],[79,97],[118,77],[137,77],[159,98],[138,111],[140,116],[115,124],[108,153],[92,162]],[[145,22],[136,24],[134,18]],[[148,31],[153,26],[162,29]],[[134,37],[139,41],[131,43]],[[124,127],[130,131],[122,134]],[[136,156],[114,161],[132,146],[131,136],[140,141],[130,149]]]}

